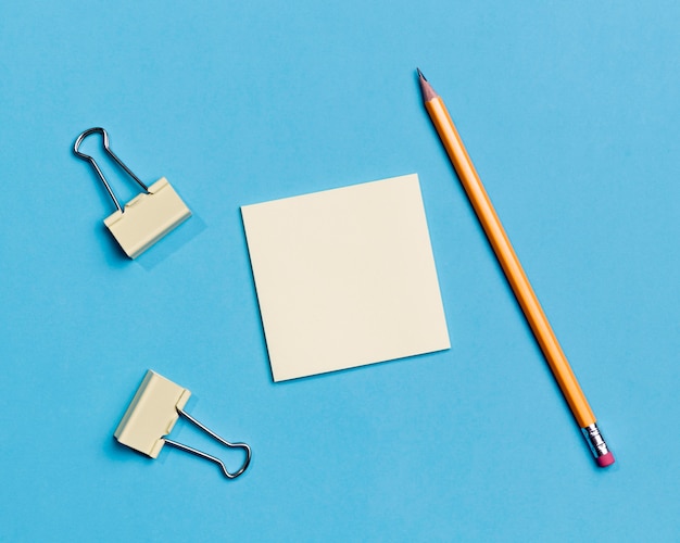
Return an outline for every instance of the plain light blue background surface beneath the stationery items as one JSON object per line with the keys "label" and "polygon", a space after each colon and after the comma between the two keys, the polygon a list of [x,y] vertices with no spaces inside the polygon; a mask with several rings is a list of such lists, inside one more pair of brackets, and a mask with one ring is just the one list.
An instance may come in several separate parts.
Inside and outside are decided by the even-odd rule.
{"label": "plain light blue background surface beneath the stationery items", "polygon": [[[680,533],[677,2],[3,2],[3,541]],[[421,106],[444,98],[617,457],[595,467]],[[138,261],[91,126],[194,216]],[[121,200],[135,186],[102,157]],[[239,206],[417,172],[452,339],[275,384]],[[112,438],[147,368],[235,481]],[[179,424],[173,437],[224,456]]]}

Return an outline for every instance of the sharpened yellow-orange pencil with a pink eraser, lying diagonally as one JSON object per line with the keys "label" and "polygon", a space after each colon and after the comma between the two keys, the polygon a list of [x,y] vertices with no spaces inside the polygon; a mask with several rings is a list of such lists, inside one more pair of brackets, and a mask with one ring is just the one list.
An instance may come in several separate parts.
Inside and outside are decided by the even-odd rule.
{"label": "sharpened yellow-orange pencil with a pink eraser, lying diagonally", "polygon": [[423,101],[505,277],[600,467],[614,464],[588,400],[567,362],[442,99],[418,70]]}

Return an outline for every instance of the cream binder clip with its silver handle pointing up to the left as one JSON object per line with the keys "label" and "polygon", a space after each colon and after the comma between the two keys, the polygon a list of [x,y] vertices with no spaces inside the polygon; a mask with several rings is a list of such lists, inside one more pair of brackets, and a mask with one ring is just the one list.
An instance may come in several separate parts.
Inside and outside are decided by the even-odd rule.
{"label": "cream binder clip with its silver handle pointing up to the left", "polygon": [[[121,207],[104,174],[89,154],[81,153],[78,148],[90,134],[100,132],[103,138],[104,151],[141,187],[140,192],[133,200]],[[109,148],[109,135],[103,128],[90,128],[85,130],[75,144],[73,152],[76,156],[88,161],[99,178],[104,184],[106,192],[113,200],[116,211],[104,219],[104,225],[113,233],[125,254],[136,258],[171,230],[175,229],[191,216],[189,207],[181,201],[175,189],[165,177],[161,177],[151,187],[147,187],[128,168],[121,159]]]}

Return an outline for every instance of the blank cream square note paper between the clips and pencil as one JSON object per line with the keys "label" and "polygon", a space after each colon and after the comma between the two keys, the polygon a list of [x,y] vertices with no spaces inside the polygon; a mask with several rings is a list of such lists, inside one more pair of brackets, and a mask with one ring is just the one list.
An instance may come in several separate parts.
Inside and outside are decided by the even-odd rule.
{"label": "blank cream square note paper between the clips and pencil", "polygon": [[450,348],[417,175],[241,214],[275,381]]}

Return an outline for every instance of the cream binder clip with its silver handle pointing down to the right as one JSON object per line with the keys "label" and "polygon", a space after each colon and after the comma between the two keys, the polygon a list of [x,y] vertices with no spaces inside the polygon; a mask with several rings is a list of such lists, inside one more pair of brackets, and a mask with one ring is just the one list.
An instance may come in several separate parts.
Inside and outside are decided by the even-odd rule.
{"label": "cream binder clip with its silver handle pointing down to the right", "polygon": [[[229,443],[185,412],[184,407],[190,395],[189,390],[149,369],[114,432],[115,439],[151,458],[159,456],[163,445],[171,445],[214,462],[227,479],[236,479],[250,464],[250,446],[245,443]],[[179,416],[185,417],[223,445],[245,451],[245,460],[241,467],[231,472],[219,458],[165,438],[173,430]]]}

